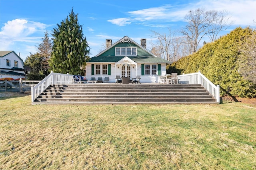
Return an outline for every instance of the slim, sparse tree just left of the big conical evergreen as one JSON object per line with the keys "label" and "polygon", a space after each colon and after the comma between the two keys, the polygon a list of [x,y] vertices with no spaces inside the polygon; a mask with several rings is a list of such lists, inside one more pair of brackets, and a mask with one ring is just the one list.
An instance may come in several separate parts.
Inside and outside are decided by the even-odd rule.
{"label": "slim, sparse tree just left of the big conical evergreen", "polygon": [[42,38],[42,43],[38,46],[38,52],[42,56],[42,69],[44,70],[44,75],[47,76],[50,73],[50,66],[48,60],[52,53],[52,41],[49,39],[48,31],[45,32]]}

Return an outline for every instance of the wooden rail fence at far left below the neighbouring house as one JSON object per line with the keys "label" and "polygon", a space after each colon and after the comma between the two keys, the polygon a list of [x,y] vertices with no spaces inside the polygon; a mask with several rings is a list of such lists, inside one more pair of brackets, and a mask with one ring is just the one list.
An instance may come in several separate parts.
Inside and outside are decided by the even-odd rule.
{"label": "wooden rail fence at far left below the neighbouring house", "polygon": [[18,90],[19,92],[23,92],[24,90],[31,90],[31,87],[35,86],[39,82],[40,80],[22,80],[22,78],[20,78],[20,80],[4,80],[0,81],[0,88],[5,90],[6,92],[8,89],[12,88]]}

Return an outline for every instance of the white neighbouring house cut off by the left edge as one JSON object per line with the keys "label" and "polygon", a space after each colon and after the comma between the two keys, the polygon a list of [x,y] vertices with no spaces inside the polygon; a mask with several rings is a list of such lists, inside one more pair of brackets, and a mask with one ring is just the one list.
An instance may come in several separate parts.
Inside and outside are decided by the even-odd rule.
{"label": "white neighbouring house cut off by the left edge", "polygon": [[0,51],[0,80],[25,78],[24,62],[14,51]]}

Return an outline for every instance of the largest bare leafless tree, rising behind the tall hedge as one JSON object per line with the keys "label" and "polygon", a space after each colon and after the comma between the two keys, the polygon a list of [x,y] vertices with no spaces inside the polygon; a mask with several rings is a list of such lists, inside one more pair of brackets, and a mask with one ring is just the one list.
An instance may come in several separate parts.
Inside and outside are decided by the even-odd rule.
{"label": "largest bare leafless tree, rising behind the tall hedge", "polygon": [[205,11],[198,8],[197,10],[190,10],[185,16],[188,25],[180,31],[186,36],[186,41],[189,46],[189,53],[192,54],[198,50],[198,45],[205,35],[209,35],[211,41],[214,41],[218,33],[227,27],[228,13],[218,12],[215,10]]}

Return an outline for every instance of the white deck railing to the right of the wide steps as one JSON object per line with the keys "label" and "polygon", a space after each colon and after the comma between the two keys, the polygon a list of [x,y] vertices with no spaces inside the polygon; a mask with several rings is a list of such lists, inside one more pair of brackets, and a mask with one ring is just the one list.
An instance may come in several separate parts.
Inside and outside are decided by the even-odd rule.
{"label": "white deck railing to the right of the wide steps", "polygon": [[178,75],[178,79],[181,83],[185,84],[202,84],[202,86],[216,98],[216,101],[220,103],[220,86],[214,85],[200,71],[191,74]]}

